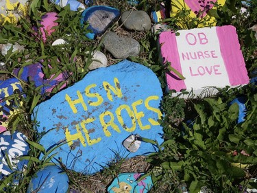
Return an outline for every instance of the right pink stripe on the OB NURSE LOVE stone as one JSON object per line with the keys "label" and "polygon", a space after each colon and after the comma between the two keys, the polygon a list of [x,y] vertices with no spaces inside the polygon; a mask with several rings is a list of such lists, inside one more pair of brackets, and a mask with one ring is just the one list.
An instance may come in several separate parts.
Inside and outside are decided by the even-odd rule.
{"label": "right pink stripe on the OB NURSE LOVE stone", "polygon": [[236,27],[232,25],[216,27],[216,32],[230,84],[236,86],[249,83],[245,60],[238,43]]}

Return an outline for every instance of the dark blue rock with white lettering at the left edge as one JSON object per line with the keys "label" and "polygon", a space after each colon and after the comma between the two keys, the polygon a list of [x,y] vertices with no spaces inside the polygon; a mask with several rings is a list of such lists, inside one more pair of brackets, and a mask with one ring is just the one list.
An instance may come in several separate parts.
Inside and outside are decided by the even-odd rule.
{"label": "dark blue rock with white lettering at the left edge", "polygon": [[[20,161],[19,157],[29,152],[26,139],[25,135],[16,131],[12,135],[9,130],[0,134],[0,180],[14,171],[25,169],[28,161]],[[12,168],[8,166],[8,159]]]}

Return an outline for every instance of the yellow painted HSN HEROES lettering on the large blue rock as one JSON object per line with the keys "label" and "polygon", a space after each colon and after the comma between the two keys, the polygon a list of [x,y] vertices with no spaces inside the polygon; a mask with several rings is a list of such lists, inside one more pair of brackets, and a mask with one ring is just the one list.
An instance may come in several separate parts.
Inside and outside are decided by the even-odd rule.
{"label": "yellow painted HSN HEROES lettering on the large blue rock", "polygon": [[[109,82],[104,81],[102,84],[103,84],[103,89],[106,91],[107,98],[108,98],[108,100],[110,100],[110,102],[114,101],[111,91],[118,98],[123,98],[123,93],[121,92],[120,83],[117,78],[114,78],[114,85],[115,85],[114,87]],[[89,84],[84,90],[85,91],[84,93],[88,98],[95,98],[95,100],[96,100],[94,102],[91,100],[88,100],[87,104],[84,101],[83,95],[80,91],[77,91],[78,98],[76,100],[71,100],[71,97],[68,94],[66,94],[65,100],[66,100],[66,102],[69,103],[69,106],[71,107],[71,110],[73,111],[73,113],[77,113],[76,105],[78,105],[78,104],[82,105],[84,111],[87,111],[88,110],[87,105],[99,106],[103,103],[103,98],[99,93],[90,92],[90,89],[93,89],[95,87],[97,87],[97,84]],[[149,124],[143,125],[141,119],[143,117],[145,117],[145,113],[143,111],[138,111],[138,109],[137,109],[137,106],[144,105],[147,110],[157,113],[158,119],[160,119],[162,116],[162,113],[160,112],[160,109],[156,109],[149,105],[151,100],[159,100],[159,97],[157,95],[150,95],[149,97],[145,98],[145,100],[143,100],[143,99],[136,100],[135,102],[133,102],[131,104],[131,106],[129,106],[127,104],[121,104],[120,106],[117,107],[117,109],[115,109],[114,113],[112,113],[111,111],[104,111],[104,112],[100,113],[99,114],[99,122],[101,123],[101,127],[103,129],[104,135],[106,137],[111,136],[111,133],[108,130],[108,128],[112,128],[117,133],[121,133],[120,128],[123,128],[125,131],[131,133],[136,129],[136,122],[138,123],[138,126],[141,130],[149,129],[149,128],[151,128],[151,125],[153,125],[153,126],[159,125],[158,121],[154,120],[151,117],[148,118]],[[130,127],[128,127],[127,124],[125,124],[125,121],[123,120],[123,117],[121,115],[121,111],[126,112],[127,115],[130,117],[130,119],[131,119]],[[105,117],[109,118],[108,122],[106,122]],[[120,125],[117,125],[114,123],[115,118],[117,118]],[[86,120],[83,120],[79,124],[76,124],[75,128],[77,130],[77,133],[75,133],[75,134],[71,134],[70,130],[68,128],[66,128],[65,136],[66,136],[66,141],[68,142],[68,145],[70,147],[72,147],[73,141],[75,141],[77,139],[79,139],[79,141],[82,143],[82,145],[84,147],[86,146],[86,141],[87,141],[88,146],[92,146],[93,144],[99,143],[99,141],[101,141],[101,137],[92,139],[89,135],[90,134],[89,130],[86,128],[86,124],[95,122],[95,120],[96,120],[95,117],[90,117],[90,118],[87,118]],[[84,135],[82,134],[82,131],[83,131]]]}

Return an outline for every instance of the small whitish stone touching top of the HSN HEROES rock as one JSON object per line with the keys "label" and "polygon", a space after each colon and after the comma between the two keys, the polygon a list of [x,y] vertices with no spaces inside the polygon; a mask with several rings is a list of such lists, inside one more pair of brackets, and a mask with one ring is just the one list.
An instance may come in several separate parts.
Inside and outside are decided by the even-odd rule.
{"label": "small whitish stone touching top of the HSN HEROES rock", "polygon": [[92,54],[93,54],[93,56],[92,56],[93,61],[90,64],[90,66],[88,67],[89,70],[98,69],[101,67],[107,67],[108,60],[106,58],[106,55],[104,55],[102,52],[100,52],[98,50]]}

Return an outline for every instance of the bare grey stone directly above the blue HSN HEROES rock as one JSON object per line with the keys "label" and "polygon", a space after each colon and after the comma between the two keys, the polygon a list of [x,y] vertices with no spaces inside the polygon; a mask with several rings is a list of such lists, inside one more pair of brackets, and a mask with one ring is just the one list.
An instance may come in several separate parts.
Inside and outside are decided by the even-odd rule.
{"label": "bare grey stone directly above the blue HSN HEROES rock", "polygon": [[140,52],[138,41],[133,38],[120,37],[114,32],[107,32],[102,43],[114,58],[125,59],[129,56],[137,56]]}

